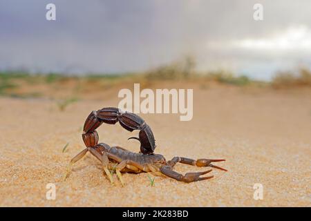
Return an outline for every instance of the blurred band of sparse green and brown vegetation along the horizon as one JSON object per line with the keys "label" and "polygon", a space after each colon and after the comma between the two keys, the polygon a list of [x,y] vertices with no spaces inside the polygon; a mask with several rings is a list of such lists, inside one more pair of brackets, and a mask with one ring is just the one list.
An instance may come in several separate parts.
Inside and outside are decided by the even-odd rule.
{"label": "blurred band of sparse green and brown vegetation along the horizon", "polygon": [[232,86],[290,88],[311,86],[311,72],[307,68],[301,68],[296,72],[277,73],[271,82],[254,81],[226,70],[198,73],[195,70],[194,59],[186,57],[145,73],[68,76],[58,73],[42,75],[23,71],[3,72],[0,73],[0,95],[23,99],[45,97],[59,100],[66,94],[70,98],[57,102],[59,111],[65,111],[69,104],[77,102],[76,97],[84,98],[92,94],[96,95],[93,99],[103,99],[110,96],[106,92],[111,88],[131,87],[137,82],[141,88],[152,88],[154,84],[162,81],[191,81],[203,90],[209,88],[210,82]]}

